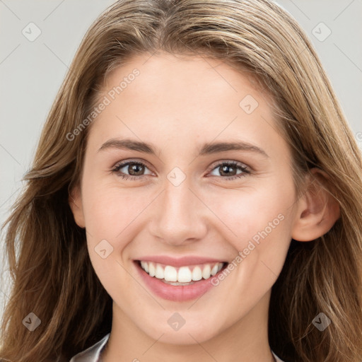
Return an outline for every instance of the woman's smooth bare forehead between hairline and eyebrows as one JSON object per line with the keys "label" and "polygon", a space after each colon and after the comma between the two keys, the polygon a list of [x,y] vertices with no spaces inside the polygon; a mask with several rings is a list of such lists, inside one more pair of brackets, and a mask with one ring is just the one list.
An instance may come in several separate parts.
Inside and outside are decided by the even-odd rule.
{"label": "woman's smooth bare forehead between hairline and eyebrows", "polygon": [[[102,98],[103,97],[103,98]],[[233,138],[265,143],[276,138],[271,98],[250,76],[217,59],[144,54],[113,69],[103,85],[109,101],[92,124],[91,138]],[[93,134],[93,136],[92,136]]]}

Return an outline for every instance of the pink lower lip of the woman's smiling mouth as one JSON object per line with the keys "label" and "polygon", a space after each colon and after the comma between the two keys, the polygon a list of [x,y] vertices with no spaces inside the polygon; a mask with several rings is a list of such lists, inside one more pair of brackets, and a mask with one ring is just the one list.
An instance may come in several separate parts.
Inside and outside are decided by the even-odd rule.
{"label": "pink lower lip of the woman's smiling mouth", "polygon": [[170,284],[165,284],[160,279],[150,276],[141,268],[139,262],[134,261],[136,264],[136,269],[139,271],[141,278],[144,280],[145,284],[148,288],[159,296],[160,298],[173,300],[175,302],[184,302],[186,300],[192,300],[196,298],[200,298],[204,293],[209,291],[214,285],[211,284],[211,280],[213,278],[217,278],[218,274],[220,274],[223,269],[227,267],[223,267],[218,273],[214,276],[211,276],[209,279],[201,279],[199,281],[195,281],[194,284],[190,284],[188,286],[173,286]]}

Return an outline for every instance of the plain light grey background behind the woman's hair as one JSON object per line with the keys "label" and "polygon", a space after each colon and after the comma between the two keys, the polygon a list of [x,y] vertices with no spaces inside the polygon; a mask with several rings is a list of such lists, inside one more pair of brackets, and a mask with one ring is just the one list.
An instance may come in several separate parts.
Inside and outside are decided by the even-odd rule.
{"label": "plain light grey background behind the woman's hair", "polygon": [[[0,223],[23,185],[21,178],[30,167],[42,125],[81,38],[112,2],[0,0]],[[276,2],[296,18],[312,40],[362,146],[362,0]],[[332,31],[324,41],[317,39],[328,31],[321,22]],[[30,33],[33,25],[29,23],[41,30],[33,42],[22,33],[23,29]],[[3,254],[1,244],[0,256]],[[1,262],[0,271],[6,269]],[[9,293],[7,279],[4,273],[0,315]]]}

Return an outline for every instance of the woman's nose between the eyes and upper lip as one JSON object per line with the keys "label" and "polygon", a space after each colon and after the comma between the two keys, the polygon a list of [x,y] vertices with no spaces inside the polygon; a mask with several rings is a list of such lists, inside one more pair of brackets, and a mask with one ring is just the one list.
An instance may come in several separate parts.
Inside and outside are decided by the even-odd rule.
{"label": "woman's nose between the eyes and upper lip", "polygon": [[201,240],[207,233],[207,211],[187,179],[177,186],[166,180],[163,192],[153,204],[150,233],[170,245]]}

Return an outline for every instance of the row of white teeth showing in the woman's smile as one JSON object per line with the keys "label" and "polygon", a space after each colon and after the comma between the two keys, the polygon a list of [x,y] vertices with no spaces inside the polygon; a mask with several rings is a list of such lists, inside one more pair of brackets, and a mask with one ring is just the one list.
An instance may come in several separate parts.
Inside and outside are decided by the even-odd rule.
{"label": "row of white teeth showing in the woman's smile", "polygon": [[[170,282],[167,284],[190,283],[201,279],[209,279],[223,268],[224,263],[202,264],[194,267],[175,268],[170,265],[163,266],[158,263],[141,261],[141,268],[150,276]],[[192,284],[192,283],[190,283]]]}

